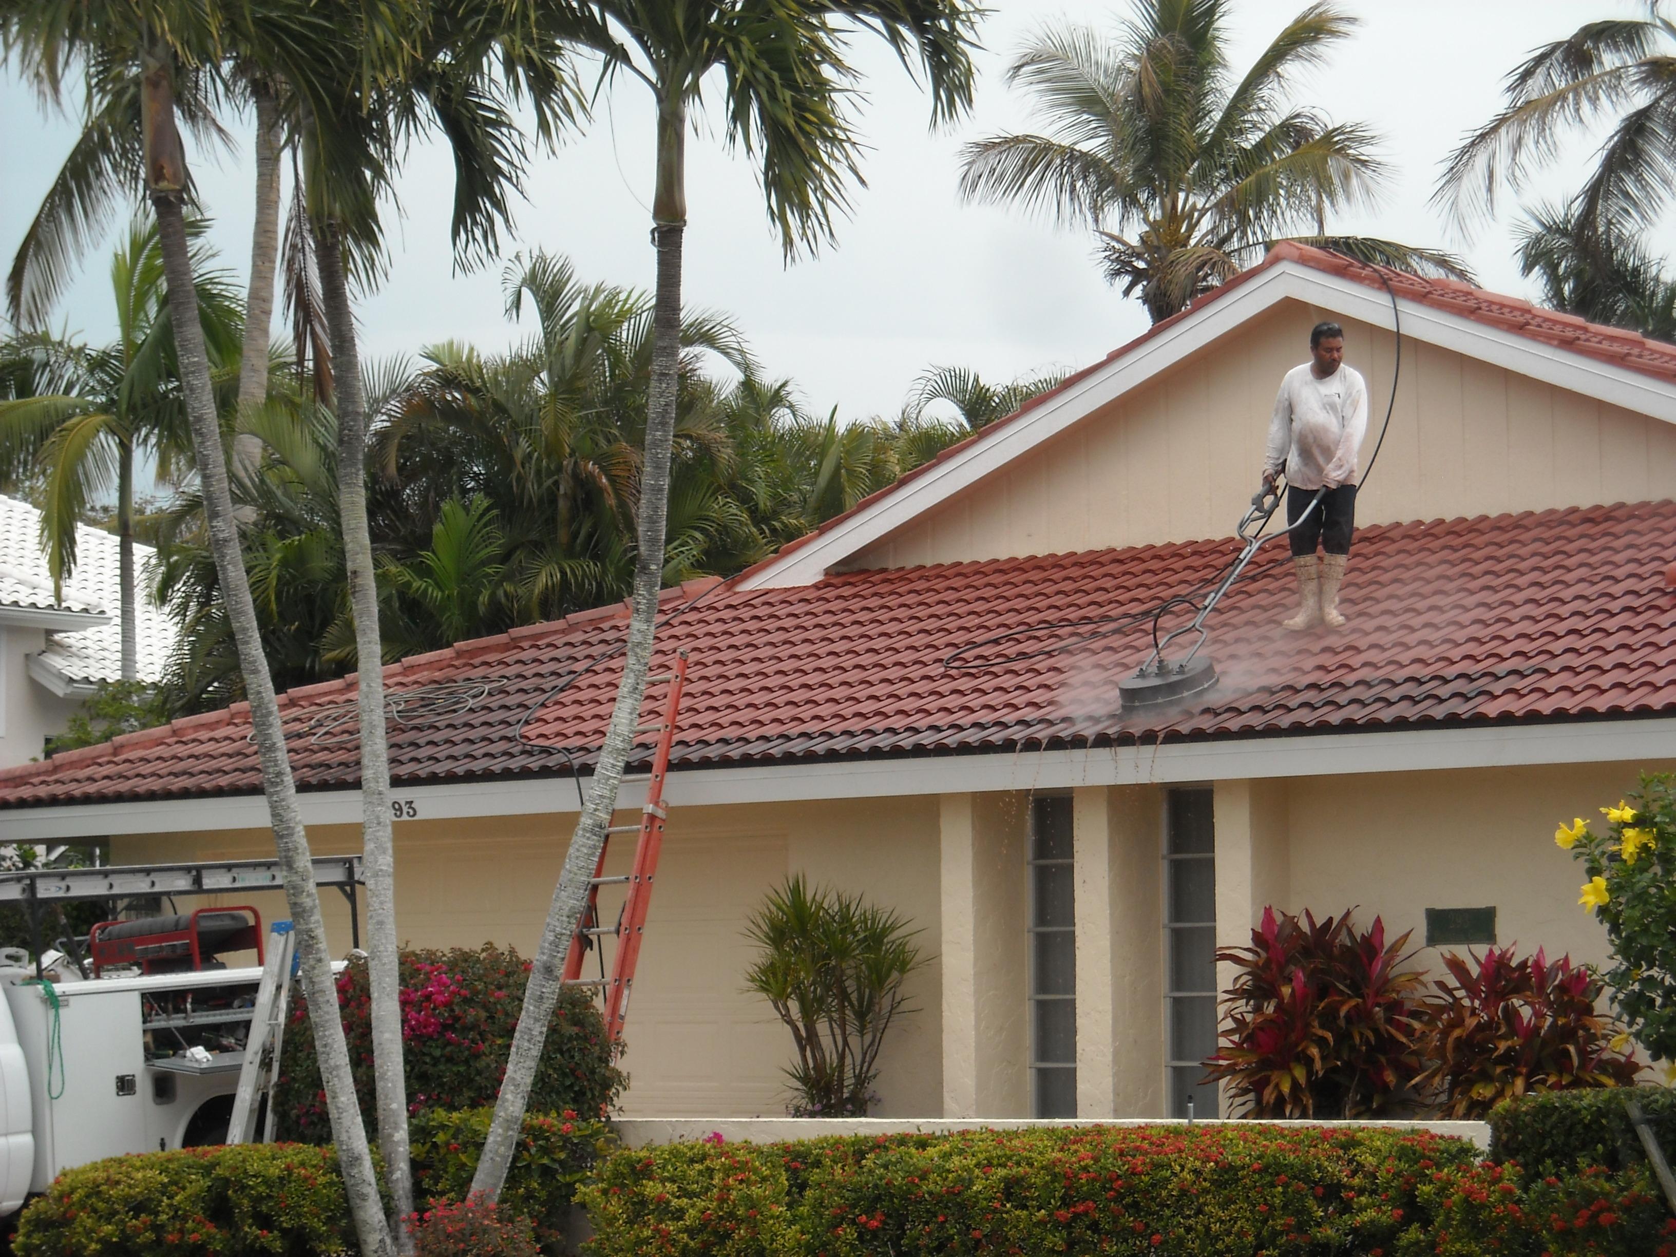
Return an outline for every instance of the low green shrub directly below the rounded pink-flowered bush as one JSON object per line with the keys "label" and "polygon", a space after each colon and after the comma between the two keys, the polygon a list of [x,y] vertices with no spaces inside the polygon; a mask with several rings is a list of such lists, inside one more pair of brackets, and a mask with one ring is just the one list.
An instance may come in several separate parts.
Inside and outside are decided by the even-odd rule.
{"label": "low green shrub directly below the rounded pink-flowered bush", "polygon": [[[414,1115],[407,1131],[419,1200],[441,1205],[469,1198],[493,1116],[493,1108]],[[613,1145],[603,1121],[582,1121],[573,1110],[526,1115],[499,1195],[503,1212],[528,1218],[543,1252],[563,1252],[565,1220],[577,1187]]]}

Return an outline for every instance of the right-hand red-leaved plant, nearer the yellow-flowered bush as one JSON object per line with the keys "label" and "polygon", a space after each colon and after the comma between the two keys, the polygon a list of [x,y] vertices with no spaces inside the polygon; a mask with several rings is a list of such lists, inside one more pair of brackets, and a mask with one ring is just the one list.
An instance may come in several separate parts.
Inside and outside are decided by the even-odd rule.
{"label": "right-hand red-leaved plant, nearer the yellow-flowered bush", "polygon": [[1446,1118],[1480,1120],[1532,1091],[1627,1086],[1642,1064],[1621,1049],[1627,1036],[1599,1014],[1601,979],[1569,955],[1513,959],[1492,947],[1468,964],[1445,955],[1450,979],[1433,984],[1426,1029],[1431,1064],[1416,1079],[1436,1088]]}

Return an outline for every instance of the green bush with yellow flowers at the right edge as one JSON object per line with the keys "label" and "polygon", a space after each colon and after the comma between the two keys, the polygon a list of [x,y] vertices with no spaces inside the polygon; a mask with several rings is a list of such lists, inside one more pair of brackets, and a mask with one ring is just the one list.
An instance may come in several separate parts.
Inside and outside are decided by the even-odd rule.
{"label": "green bush with yellow flowers at the right edge", "polygon": [[1554,841],[1589,875],[1577,902],[1606,925],[1614,1009],[1651,1056],[1676,1061],[1676,776],[1642,776],[1601,813],[1604,825],[1577,816]]}

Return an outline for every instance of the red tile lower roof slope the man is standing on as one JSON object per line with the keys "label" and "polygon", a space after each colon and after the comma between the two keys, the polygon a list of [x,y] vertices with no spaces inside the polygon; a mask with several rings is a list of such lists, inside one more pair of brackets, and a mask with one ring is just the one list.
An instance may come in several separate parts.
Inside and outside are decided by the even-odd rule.
{"label": "red tile lower roof slope the man is standing on", "polygon": [[[1671,501],[1364,528],[1342,598],[1353,627],[1302,635],[1277,627],[1292,582],[1275,543],[1210,622],[1222,682],[1187,711],[1131,719],[1116,682],[1145,628],[985,670],[944,660],[996,632],[1151,605],[1218,572],[1232,541],[694,583],[665,595],[665,615],[687,610],[660,628],[654,665],[691,652],[677,768],[1671,714],[1673,533]],[[392,665],[396,781],[566,771],[513,731],[623,630],[618,605]],[[610,660],[541,706],[528,736],[590,763],[615,685]],[[352,687],[283,702],[298,784],[354,786]],[[0,773],[0,808],[258,789],[248,709],[233,707]]]}

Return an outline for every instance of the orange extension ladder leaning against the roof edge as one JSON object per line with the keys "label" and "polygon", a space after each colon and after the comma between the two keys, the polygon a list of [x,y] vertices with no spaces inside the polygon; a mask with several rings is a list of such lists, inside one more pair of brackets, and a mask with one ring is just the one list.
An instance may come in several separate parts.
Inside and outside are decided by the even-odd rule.
{"label": "orange extension ladder leaning against the roof edge", "polygon": [[[634,989],[634,970],[640,960],[640,939],[645,934],[645,912],[652,903],[652,882],[657,877],[657,856],[664,850],[664,821],[669,810],[664,806],[664,778],[669,774],[669,747],[675,741],[675,716],[680,711],[680,692],[687,685],[687,652],[675,652],[672,672],[647,677],[650,685],[669,685],[669,697],[664,699],[664,716],[652,724],[642,724],[635,734],[657,734],[657,749],[652,753],[652,776],[645,783],[645,806],[640,810],[639,825],[613,825],[605,830],[605,845],[600,848],[600,861],[588,878],[588,903],[582,912],[582,923],[570,940],[570,954],[565,957],[565,985],[598,987],[605,996],[605,1034],[617,1041],[623,1032],[623,1019],[628,1016],[628,992]],[[617,877],[605,877],[605,853],[610,850],[613,833],[637,833],[634,846],[634,872]],[[617,913],[615,925],[600,925],[600,887],[627,885],[628,895]],[[617,955],[612,959],[612,974],[605,977],[583,977],[582,960],[592,947],[602,947],[600,969],[605,967],[603,939],[617,939]]]}

